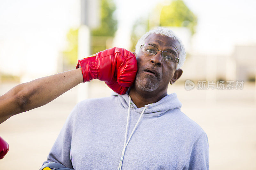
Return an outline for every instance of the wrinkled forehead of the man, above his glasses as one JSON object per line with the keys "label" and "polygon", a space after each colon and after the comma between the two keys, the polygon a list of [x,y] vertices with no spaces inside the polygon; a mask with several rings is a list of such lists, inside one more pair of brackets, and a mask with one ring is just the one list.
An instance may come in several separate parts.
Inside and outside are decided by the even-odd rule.
{"label": "wrinkled forehead of the man, above his glasses", "polygon": [[181,48],[180,43],[177,39],[173,39],[172,37],[168,37],[161,34],[152,33],[148,35],[145,39],[144,43],[146,44],[154,44],[157,46],[159,50],[172,49],[180,54]]}

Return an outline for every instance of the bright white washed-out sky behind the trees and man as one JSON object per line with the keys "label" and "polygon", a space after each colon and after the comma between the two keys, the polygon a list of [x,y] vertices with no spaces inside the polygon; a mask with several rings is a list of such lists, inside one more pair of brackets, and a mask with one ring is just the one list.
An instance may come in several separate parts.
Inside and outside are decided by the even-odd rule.
{"label": "bright white washed-out sky behind the trees and man", "polygon": [[[146,16],[156,0],[115,0],[119,47],[129,45],[131,26]],[[198,17],[193,49],[229,55],[236,44],[256,44],[256,1],[185,0]],[[56,71],[56,57],[70,27],[79,26],[79,0],[0,0],[0,71],[37,76]]]}

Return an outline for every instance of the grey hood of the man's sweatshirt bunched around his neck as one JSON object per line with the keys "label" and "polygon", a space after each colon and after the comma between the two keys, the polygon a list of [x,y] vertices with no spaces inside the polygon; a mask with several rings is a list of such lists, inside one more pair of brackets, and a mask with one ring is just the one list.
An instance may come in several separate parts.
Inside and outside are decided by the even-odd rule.
{"label": "grey hood of the man's sweatshirt bunched around his neck", "polygon": [[[130,89],[129,89],[130,90]],[[129,107],[129,90],[123,94],[117,94],[116,92],[112,92],[112,96],[118,96],[118,104],[121,108],[128,109]],[[147,116],[154,116],[159,117],[163,115],[165,112],[171,109],[178,108],[180,110],[180,107],[182,106],[180,100],[177,98],[176,93],[169,94],[159,100],[156,103],[152,103],[147,105],[148,108],[145,110],[144,115]],[[144,107],[137,108],[136,105],[131,101],[131,110],[135,111],[137,113],[141,113]]]}

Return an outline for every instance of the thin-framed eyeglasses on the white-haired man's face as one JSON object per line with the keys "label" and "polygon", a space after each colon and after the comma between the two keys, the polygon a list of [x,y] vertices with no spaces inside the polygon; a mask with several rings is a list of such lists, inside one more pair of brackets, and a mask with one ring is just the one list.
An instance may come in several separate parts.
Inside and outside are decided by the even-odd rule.
{"label": "thin-framed eyeglasses on the white-haired man's face", "polygon": [[[150,44],[143,44],[140,46],[140,48],[141,47],[142,47],[142,51],[149,55],[156,55],[157,51],[161,51],[158,48],[156,48],[155,46],[150,45]],[[175,54],[172,54],[168,51],[161,51],[161,52],[162,52],[162,58],[165,61],[167,61],[169,63],[175,63],[177,60],[178,61],[177,63],[179,63],[180,59]]]}

